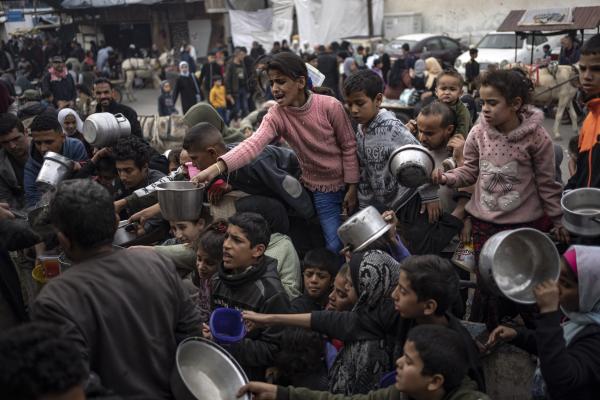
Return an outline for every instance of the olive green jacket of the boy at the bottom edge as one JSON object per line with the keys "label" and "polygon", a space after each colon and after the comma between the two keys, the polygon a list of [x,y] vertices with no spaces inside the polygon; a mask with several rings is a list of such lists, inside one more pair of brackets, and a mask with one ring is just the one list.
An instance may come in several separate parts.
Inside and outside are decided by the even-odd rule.
{"label": "olive green jacket of the boy at the bottom edge", "polygon": [[[444,396],[443,400],[490,400],[486,394],[476,391],[476,386],[475,382],[466,378],[458,389],[448,393]],[[277,400],[403,400],[407,398],[408,396],[403,395],[395,386],[373,390],[367,394],[355,394],[353,396],[317,392],[291,386],[277,387]]]}

